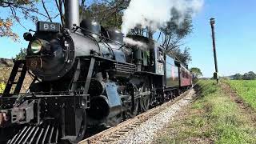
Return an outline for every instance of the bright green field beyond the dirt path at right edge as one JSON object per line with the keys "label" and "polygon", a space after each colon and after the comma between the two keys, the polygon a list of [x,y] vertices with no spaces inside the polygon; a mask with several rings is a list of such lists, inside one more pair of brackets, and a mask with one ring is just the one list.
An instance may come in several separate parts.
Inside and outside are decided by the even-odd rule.
{"label": "bright green field beyond the dirt path at right edge", "polygon": [[230,80],[226,82],[238,93],[243,102],[256,110],[256,80]]}

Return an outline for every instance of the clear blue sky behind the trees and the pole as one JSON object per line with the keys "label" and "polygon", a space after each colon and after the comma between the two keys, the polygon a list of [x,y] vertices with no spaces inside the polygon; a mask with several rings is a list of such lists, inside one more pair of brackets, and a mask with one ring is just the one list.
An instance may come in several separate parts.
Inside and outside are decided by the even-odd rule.
{"label": "clear blue sky behind the trees and the pole", "polygon": [[[0,10],[0,18],[6,15],[8,14],[4,10]],[[202,10],[193,19],[193,34],[184,40],[184,46],[191,49],[192,62],[189,67],[200,68],[203,77],[213,76],[214,54],[210,18],[214,17],[219,74],[227,76],[256,72],[255,15],[255,0],[205,0]],[[58,19],[54,21],[58,22]],[[0,38],[0,58],[14,58],[21,48],[26,48],[28,42],[23,40],[22,34],[29,29],[35,30],[35,26],[33,22],[26,20],[22,20],[22,25],[26,29],[17,23],[13,27],[14,32],[20,36],[19,42]]]}

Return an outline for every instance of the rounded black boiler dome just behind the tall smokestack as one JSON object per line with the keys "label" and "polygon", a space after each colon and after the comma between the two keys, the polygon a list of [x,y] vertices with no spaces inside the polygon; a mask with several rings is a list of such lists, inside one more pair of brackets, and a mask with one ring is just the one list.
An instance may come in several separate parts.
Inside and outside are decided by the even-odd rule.
{"label": "rounded black boiler dome just behind the tall smokestack", "polygon": [[80,23],[80,26],[82,27],[82,34],[90,35],[97,41],[99,40],[99,35],[101,34],[101,26],[98,22],[93,19],[83,19]]}

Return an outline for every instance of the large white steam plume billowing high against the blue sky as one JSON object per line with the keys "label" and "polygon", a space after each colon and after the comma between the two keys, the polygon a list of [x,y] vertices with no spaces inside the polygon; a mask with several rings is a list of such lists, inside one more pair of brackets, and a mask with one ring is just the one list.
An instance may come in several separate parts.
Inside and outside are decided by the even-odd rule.
{"label": "large white steam plume billowing high against the blue sky", "polygon": [[197,14],[203,6],[203,0],[131,0],[122,17],[122,33],[127,34],[136,26],[158,30],[173,18],[171,10],[176,9],[182,22],[189,12]]}

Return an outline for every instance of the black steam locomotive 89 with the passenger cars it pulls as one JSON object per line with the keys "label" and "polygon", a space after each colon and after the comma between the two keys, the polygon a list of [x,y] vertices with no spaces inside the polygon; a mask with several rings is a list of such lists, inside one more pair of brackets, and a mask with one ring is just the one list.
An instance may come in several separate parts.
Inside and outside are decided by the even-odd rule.
{"label": "black steam locomotive 89 with the passenger cars it pulls", "polygon": [[[118,29],[79,24],[78,1],[66,2],[66,28],[38,22],[24,34],[26,60],[14,63],[0,98],[0,143],[78,142],[86,128],[114,126],[192,85],[187,67],[157,42],[128,35],[136,46]],[[20,94],[26,73],[34,81]]]}

